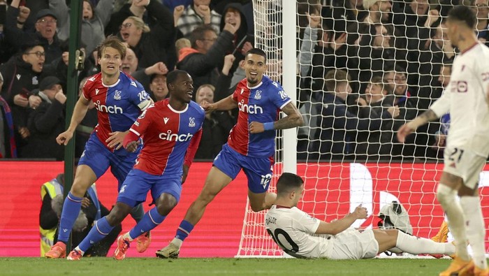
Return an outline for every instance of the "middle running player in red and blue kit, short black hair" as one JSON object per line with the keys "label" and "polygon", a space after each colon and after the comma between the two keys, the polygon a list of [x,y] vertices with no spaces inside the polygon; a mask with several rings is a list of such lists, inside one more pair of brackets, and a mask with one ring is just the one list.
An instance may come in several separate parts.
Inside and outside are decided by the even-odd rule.
{"label": "middle running player in red and blue kit, short black hair", "polygon": [[115,207],[109,215],[99,219],[80,245],[70,252],[69,260],[80,259],[92,242],[103,239],[122,222],[131,208],[145,202],[147,192],[151,190],[156,207],[149,210],[131,231],[117,238],[114,258],[124,259],[131,240],[161,224],[180,200],[182,182],[200,143],[205,112],[191,101],[194,87],[187,72],[171,71],[166,82],[170,99],[158,101],[143,112],[124,138],[124,147],[128,151],[136,150],[140,136],[143,136],[144,145],[136,165],[122,184]]}

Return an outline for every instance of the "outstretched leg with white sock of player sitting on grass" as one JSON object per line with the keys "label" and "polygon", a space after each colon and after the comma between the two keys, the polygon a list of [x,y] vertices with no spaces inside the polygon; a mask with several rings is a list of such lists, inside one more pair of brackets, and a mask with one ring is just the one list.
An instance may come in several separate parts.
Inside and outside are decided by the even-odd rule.
{"label": "outstretched leg with white sock of player sitting on grass", "polygon": [[455,253],[455,246],[451,242],[441,243],[427,238],[418,238],[397,229],[374,229],[373,232],[375,240],[379,243],[379,253],[394,247],[410,254],[451,255]]}

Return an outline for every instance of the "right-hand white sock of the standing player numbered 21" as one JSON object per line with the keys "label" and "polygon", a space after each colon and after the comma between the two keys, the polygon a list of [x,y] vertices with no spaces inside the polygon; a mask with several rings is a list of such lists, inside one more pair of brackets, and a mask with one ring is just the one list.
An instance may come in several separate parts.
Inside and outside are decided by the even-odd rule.
{"label": "right-hand white sock of the standing player numbered 21", "polygon": [[472,247],[474,264],[479,268],[486,269],[488,267],[484,242],[486,226],[484,225],[479,196],[462,196],[460,205],[464,211],[467,238]]}

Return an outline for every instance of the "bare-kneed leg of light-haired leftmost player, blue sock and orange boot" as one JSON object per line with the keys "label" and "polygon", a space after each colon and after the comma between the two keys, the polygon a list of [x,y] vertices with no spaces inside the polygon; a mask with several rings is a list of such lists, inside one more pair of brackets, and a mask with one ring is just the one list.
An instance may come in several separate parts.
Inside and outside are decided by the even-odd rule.
{"label": "bare-kneed leg of light-haired leftmost player, blue sock and orange boot", "polygon": [[87,189],[96,181],[96,175],[92,168],[87,165],[80,165],[76,168],[75,180],[71,186],[68,197],[65,198],[63,211],[61,212],[61,220],[59,223],[58,242],[53,245],[50,251],[44,254],[47,258],[64,258],[66,256],[66,242],[71,233],[71,228],[78,217],[81,209],[81,200]]}

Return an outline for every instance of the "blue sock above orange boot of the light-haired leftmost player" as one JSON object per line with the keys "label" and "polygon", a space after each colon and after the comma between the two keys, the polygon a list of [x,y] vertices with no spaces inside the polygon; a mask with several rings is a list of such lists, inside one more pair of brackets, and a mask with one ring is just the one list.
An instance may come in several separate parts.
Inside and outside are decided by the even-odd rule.
{"label": "blue sock above orange boot of the light-haired leftmost player", "polygon": [[70,238],[71,228],[75,223],[78,213],[82,208],[82,198],[73,196],[71,191],[64,199],[63,210],[61,211],[61,219],[59,221],[59,233],[58,240],[61,242],[68,242]]}

